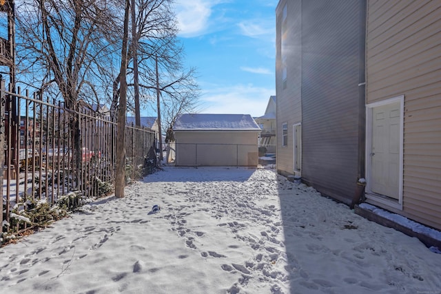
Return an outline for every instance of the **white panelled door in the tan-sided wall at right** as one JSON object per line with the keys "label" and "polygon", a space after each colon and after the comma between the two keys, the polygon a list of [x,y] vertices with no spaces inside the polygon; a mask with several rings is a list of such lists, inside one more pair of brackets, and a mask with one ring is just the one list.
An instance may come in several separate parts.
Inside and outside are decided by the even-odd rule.
{"label": "white panelled door in the tan-sided wall at right", "polygon": [[400,103],[372,109],[371,191],[400,196]]}

